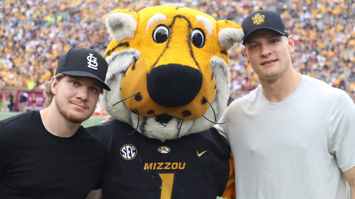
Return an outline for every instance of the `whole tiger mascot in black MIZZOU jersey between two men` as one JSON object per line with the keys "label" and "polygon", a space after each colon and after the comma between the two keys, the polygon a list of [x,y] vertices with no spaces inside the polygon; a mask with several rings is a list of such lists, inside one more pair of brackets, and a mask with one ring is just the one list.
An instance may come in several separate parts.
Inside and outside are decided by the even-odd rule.
{"label": "whole tiger mascot in black MIZZOU jersey between two men", "polygon": [[104,198],[235,198],[230,148],[213,125],[241,27],[171,5],[116,9],[105,23],[111,91],[100,102],[115,119],[89,129],[108,150]]}

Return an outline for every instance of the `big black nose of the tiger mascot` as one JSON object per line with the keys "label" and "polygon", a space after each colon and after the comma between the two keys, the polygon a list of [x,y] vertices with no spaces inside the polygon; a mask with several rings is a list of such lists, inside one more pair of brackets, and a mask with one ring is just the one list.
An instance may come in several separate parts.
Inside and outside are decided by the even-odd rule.
{"label": "big black nose of the tiger mascot", "polygon": [[158,66],[147,76],[149,96],[164,107],[188,104],[200,92],[201,87],[200,71],[180,64]]}

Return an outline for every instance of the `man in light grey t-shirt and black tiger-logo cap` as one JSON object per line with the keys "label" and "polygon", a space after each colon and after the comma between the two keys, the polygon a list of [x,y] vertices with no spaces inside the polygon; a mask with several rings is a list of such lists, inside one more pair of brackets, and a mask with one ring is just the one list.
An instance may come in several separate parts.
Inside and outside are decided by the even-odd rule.
{"label": "man in light grey t-shirt and black tiger-logo cap", "polygon": [[241,27],[261,85],[216,126],[233,153],[236,198],[349,199],[350,187],[355,199],[354,102],[294,70],[294,40],[277,12],[254,12]]}

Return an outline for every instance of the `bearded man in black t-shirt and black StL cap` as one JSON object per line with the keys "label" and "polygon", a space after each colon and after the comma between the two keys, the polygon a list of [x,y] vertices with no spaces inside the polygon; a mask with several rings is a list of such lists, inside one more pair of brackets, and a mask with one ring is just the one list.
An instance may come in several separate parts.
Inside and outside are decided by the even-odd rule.
{"label": "bearded man in black t-shirt and black StL cap", "polygon": [[46,84],[48,107],[0,121],[0,198],[84,199],[101,193],[105,148],[81,123],[94,112],[107,62],[75,47]]}

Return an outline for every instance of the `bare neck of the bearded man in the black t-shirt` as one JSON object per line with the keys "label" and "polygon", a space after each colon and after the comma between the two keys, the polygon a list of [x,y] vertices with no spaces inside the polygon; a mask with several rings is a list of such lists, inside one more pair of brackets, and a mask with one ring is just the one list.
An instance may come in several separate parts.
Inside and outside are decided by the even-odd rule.
{"label": "bare neck of the bearded man in the black t-shirt", "polygon": [[56,109],[54,104],[39,111],[45,129],[58,137],[71,137],[81,124],[66,120]]}

